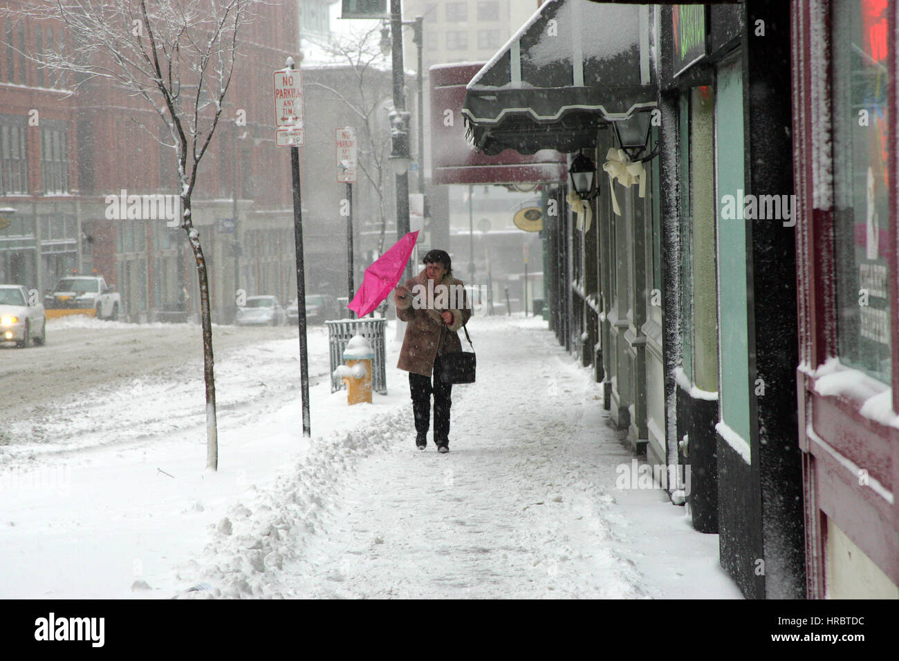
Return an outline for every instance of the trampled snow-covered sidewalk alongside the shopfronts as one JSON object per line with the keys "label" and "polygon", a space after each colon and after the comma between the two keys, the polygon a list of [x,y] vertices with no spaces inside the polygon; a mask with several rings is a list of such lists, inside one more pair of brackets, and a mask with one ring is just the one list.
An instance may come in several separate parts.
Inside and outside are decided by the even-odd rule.
{"label": "trampled snow-covered sidewalk alongside the shopfronts", "polygon": [[546,323],[470,326],[478,381],[453,389],[448,455],[414,448],[405,373],[346,419],[331,396],[334,431],[227,509],[179,596],[739,598],[717,535],[660,489],[616,488],[632,457]]}

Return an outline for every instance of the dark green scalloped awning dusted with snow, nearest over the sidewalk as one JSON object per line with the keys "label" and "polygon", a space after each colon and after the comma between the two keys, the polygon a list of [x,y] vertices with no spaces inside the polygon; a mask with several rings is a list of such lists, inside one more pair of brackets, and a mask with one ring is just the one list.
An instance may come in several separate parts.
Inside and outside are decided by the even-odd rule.
{"label": "dark green scalloped awning dusted with snow, nearest over the sidewalk", "polygon": [[467,85],[462,115],[485,154],[574,152],[656,107],[649,8],[547,0]]}

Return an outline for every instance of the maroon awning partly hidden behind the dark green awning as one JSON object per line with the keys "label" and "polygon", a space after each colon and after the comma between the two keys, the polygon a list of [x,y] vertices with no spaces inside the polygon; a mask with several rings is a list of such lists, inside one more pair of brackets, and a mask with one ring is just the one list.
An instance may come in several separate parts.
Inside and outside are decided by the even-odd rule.
{"label": "maroon awning partly hidden behind the dark green awning", "polygon": [[521,156],[506,149],[497,156],[474,151],[466,138],[462,102],[466,85],[484,62],[431,67],[432,183],[556,183],[565,181],[565,155],[544,149]]}

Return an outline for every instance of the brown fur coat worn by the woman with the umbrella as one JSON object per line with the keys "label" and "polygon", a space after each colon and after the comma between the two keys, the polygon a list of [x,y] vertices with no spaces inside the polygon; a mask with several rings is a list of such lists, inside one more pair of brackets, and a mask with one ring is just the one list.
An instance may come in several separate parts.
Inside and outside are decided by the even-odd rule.
{"label": "brown fur coat worn by the woman with the umbrella", "polygon": [[[449,274],[443,276],[441,284],[457,295],[455,297],[448,295],[445,297],[446,300],[443,300],[441,290],[435,286],[429,296],[428,275],[424,270],[405,283],[405,288],[410,291],[411,296],[407,296],[404,300],[394,294],[396,317],[407,322],[403,348],[396,364],[400,370],[430,377],[436,356],[462,351],[457,331],[471,317],[467,293],[462,288],[462,281]],[[450,290],[451,286],[455,288]],[[452,324],[449,326],[444,325],[441,318],[441,312],[444,310],[452,312]]]}

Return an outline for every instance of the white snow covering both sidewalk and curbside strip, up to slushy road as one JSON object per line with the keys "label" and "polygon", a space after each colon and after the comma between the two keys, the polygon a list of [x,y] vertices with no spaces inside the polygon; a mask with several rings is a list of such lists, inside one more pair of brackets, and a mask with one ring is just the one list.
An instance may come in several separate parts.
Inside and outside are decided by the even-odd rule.
{"label": "white snow covering both sidewalk and curbside strip, up to slushy road", "polygon": [[310,442],[295,329],[265,330],[218,349],[217,474],[199,356],[129,381],[118,413],[85,408],[74,436],[44,422],[40,442],[0,446],[0,597],[741,597],[717,535],[661,489],[616,487],[632,456],[541,319],[473,319],[478,381],[454,387],[448,455],[430,435],[414,448],[393,323],[389,394],[352,407],[310,329]]}

